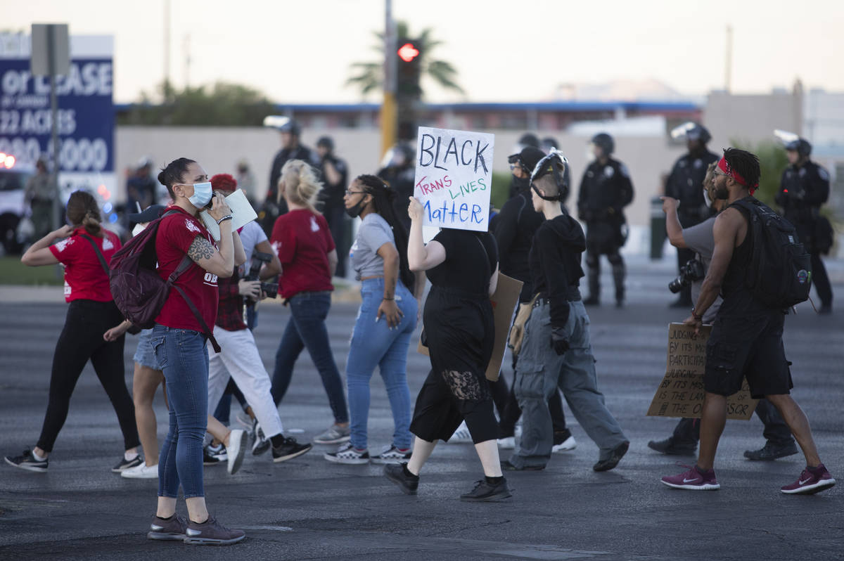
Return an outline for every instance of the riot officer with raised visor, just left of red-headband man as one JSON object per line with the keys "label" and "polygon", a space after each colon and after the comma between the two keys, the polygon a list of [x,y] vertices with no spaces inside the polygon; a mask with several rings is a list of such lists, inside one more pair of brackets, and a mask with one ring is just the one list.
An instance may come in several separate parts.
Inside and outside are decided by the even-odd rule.
{"label": "riot officer with raised visor, just left of red-headband man", "polygon": [[[674,167],[671,169],[665,184],[665,196],[679,200],[680,225],[683,228],[689,228],[695,224],[701,224],[712,214],[703,198],[703,178],[706,177],[706,167],[712,162],[717,162],[718,157],[706,148],[706,143],[710,141],[711,135],[705,127],[691,122],[686,123],[683,127],[686,147],[689,148],[689,152],[674,162]],[[694,258],[694,251],[678,249],[678,271],[680,267]],[[688,308],[691,304],[691,288],[687,286],[680,291],[679,299],[671,307]]]}

